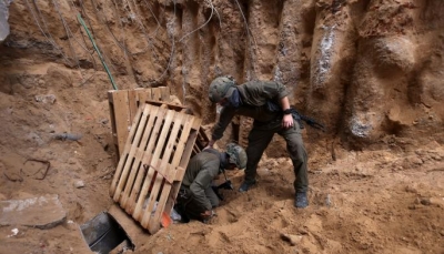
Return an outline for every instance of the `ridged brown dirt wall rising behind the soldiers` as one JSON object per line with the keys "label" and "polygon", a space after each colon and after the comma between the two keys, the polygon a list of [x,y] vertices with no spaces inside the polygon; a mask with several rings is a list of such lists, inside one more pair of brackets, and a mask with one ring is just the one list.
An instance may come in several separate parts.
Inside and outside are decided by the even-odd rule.
{"label": "ridged brown dirt wall rising behind the soldiers", "polygon": [[441,133],[443,9],[407,0],[22,0],[11,6],[3,50],[103,71],[80,14],[111,73],[128,79],[122,89],[169,85],[211,123],[213,78],[276,80],[294,106],[327,126],[322,136],[360,148],[417,129]]}

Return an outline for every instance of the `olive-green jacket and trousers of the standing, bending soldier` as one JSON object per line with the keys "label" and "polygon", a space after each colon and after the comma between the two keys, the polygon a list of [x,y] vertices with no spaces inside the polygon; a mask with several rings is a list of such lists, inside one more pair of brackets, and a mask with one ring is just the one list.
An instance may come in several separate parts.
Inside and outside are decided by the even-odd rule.
{"label": "olive-green jacket and trousers of the standing, bending soldier", "polygon": [[212,139],[220,140],[228,124],[234,115],[244,115],[254,119],[253,129],[249,134],[246,148],[248,163],[245,169],[245,182],[255,183],[258,163],[263,152],[271,142],[274,133],[280,134],[286,141],[286,150],[293,162],[296,180],[293,185],[296,192],[306,192],[307,179],[307,155],[301,136],[301,129],[297,121],[292,128],[282,128],[282,111],[270,106],[269,102],[280,105],[280,100],[289,95],[286,88],[274,81],[250,81],[236,85],[242,105],[239,108],[223,106],[219,122],[214,125]]}

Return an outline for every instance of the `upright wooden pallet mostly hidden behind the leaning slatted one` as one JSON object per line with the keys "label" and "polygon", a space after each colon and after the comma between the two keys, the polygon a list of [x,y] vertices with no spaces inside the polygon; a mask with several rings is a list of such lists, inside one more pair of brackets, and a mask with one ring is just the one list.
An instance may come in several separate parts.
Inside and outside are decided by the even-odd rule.
{"label": "upright wooden pallet mostly hidden behind the leaning slatted one", "polygon": [[132,120],[140,105],[147,101],[170,101],[170,89],[150,88],[134,90],[111,90],[108,92],[113,142],[118,151],[118,159],[123,152]]}

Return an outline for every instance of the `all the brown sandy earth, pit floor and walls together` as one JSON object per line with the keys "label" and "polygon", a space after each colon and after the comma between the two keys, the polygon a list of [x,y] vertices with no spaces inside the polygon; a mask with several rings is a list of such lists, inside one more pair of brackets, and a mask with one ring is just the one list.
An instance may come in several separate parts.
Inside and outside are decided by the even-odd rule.
{"label": "all the brown sandy earth, pit floor and walls together", "polygon": [[[444,253],[440,1],[249,1],[248,20],[236,1],[184,1],[181,9],[155,1],[152,12],[143,2],[140,10],[130,1],[115,10],[112,1],[93,2],[11,4],[11,34],[0,45],[0,201],[57,194],[67,216],[44,230],[1,226],[0,253],[89,253],[80,225],[115,209],[112,87],[92,48],[78,44],[89,45],[73,16],[81,7],[120,89],[168,85],[210,130],[209,79],[278,79],[292,105],[330,126],[303,133],[307,209],[293,206],[292,165],[276,138],[259,184],[243,194],[224,191],[210,224],[172,224],[151,235],[122,221],[134,253]],[[223,19],[192,33],[212,13],[210,3]],[[149,17],[145,27],[138,11]],[[58,139],[64,133],[75,141]],[[243,172],[229,177],[236,189]]]}

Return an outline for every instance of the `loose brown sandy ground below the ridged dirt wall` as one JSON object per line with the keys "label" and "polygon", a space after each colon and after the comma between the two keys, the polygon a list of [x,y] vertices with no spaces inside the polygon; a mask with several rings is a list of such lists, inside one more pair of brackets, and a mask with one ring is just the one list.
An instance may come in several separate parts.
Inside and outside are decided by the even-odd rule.
{"label": "loose brown sandy ground below the ridged dirt wall", "polygon": [[[108,192],[117,161],[108,100],[88,92],[92,89],[51,87],[53,103],[34,100],[49,92],[40,87],[22,90],[21,96],[1,94],[1,200],[58,194],[68,214],[50,230],[1,227],[0,253],[84,253],[79,226],[113,205]],[[82,138],[54,139],[65,131]],[[442,145],[417,148],[393,138],[387,150],[346,151],[340,144],[331,150],[305,142],[307,209],[293,206],[291,162],[264,156],[256,187],[245,194],[224,191],[225,201],[209,225],[191,222],[154,235],[132,234],[135,253],[443,252]],[[27,166],[29,159],[49,161],[48,172],[42,175],[38,164]],[[242,171],[229,174],[236,187],[242,176]],[[84,186],[78,187],[78,181]]]}

